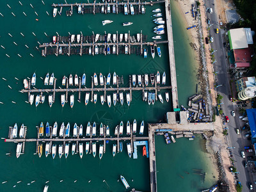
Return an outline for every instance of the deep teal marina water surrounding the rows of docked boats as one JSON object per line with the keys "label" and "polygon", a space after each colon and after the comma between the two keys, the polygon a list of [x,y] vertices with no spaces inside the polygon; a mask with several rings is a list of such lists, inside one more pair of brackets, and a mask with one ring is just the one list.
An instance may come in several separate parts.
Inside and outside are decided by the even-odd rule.
{"label": "deep teal marina water surrounding the rows of docked boats", "polygon": [[[68,3],[75,2],[68,1]],[[141,92],[132,93],[132,102],[129,108],[127,104],[121,106],[120,103],[116,104],[115,107],[111,106],[111,108],[108,108],[106,104],[102,106],[99,102],[99,95],[97,104],[90,102],[88,106],[85,106],[85,93],[81,94],[81,103],[76,102],[78,94],[74,93],[75,104],[72,109],[69,103],[65,104],[64,108],[61,108],[60,93],[56,94],[56,102],[52,105],[52,108],[49,108],[47,97],[45,103],[40,104],[37,108],[35,108],[35,105],[30,106],[30,104],[27,104],[25,100],[28,100],[28,95],[20,93],[19,90],[23,88],[22,80],[26,77],[31,78],[33,72],[36,72],[37,77],[36,88],[47,88],[43,85],[43,80],[40,79],[40,77],[45,77],[47,72],[50,74],[54,72],[54,76],[58,79],[57,87],[61,86],[61,79],[64,75],[68,76],[72,73],[73,76],[74,74],[82,76],[83,73],[86,73],[87,79],[90,79],[94,72],[97,74],[102,72],[104,76],[107,76],[109,72],[116,72],[119,76],[124,76],[124,85],[122,86],[127,87],[130,74],[150,74],[152,72],[156,73],[157,70],[161,73],[166,72],[166,84],[170,85],[170,70],[168,68],[166,45],[161,45],[162,57],[156,56],[154,60],[151,56],[143,59],[142,56],[136,56],[135,54],[131,56],[122,54],[119,56],[47,56],[44,58],[41,56],[41,52],[35,48],[35,46],[38,46],[38,42],[40,44],[50,42],[56,32],[61,36],[67,36],[68,32],[78,34],[82,31],[83,35],[92,35],[92,31],[103,34],[104,31],[106,33],[115,33],[115,31],[127,33],[130,30],[131,35],[136,35],[142,29],[143,34],[148,35],[147,41],[149,41],[151,36],[154,36],[152,28],[155,26],[151,22],[153,18],[150,15],[152,15],[151,10],[156,6],[147,6],[144,16],[103,15],[101,13],[97,15],[78,15],[74,13],[72,17],[67,17],[65,15],[66,8],[63,9],[61,16],[57,15],[53,19],[52,1],[45,0],[45,5],[42,4],[42,1],[35,2],[31,0],[21,1],[21,3],[23,5],[20,5],[19,1],[8,2],[10,9],[6,6],[6,2],[0,2],[1,13],[4,15],[4,17],[0,16],[1,26],[4,26],[0,31],[0,44],[5,48],[0,48],[0,77],[4,77],[7,80],[0,79],[2,88],[0,101],[4,103],[0,105],[0,113],[2,114],[0,122],[1,138],[8,136],[8,127],[13,126],[15,122],[19,127],[22,123],[28,126],[27,138],[36,137],[36,126],[40,125],[40,122],[44,122],[44,124],[49,122],[50,125],[53,125],[55,121],[58,122],[59,126],[61,122],[65,122],[65,124],[70,122],[71,125],[76,122],[77,124],[83,124],[84,127],[86,127],[88,121],[97,122],[98,127],[102,122],[109,125],[113,134],[114,127],[121,120],[125,124],[127,120],[132,122],[134,118],[136,118],[138,124],[142,120],[145,123],[155,123],[163,119],[167,111],[172,110],[172,102],[164,102],[164,104],[156,102],[154,106],[148,106],[147,103],[142,101]],[[29,5],[30,3],[33,8]],[[61,3],[64,2],[62,1]],[[163,6],[158,7],[163,9]],[[16,15],[15,17],[12,12]],[[22,12],[25,12],[27,17]],[[35,12],[38,13],[38,16],[36,16]],[[50,16],[46,12],[49,12]],[[114,22],[113,24],[102,26],[101,21],[105,19],[111,19]],[[122,22],[125,21],[134,22],[134,24],[124,28]],[[174,28],[174,26],[176,27]],[[193,88],[195,85],[193,85],[193,82],[191,84],[186,83],[188,80],[184,78],[188,77],[190,65],[189,58],[183,56],[184,53],[188,52],[188,49],[186,49],[186,44],[182,44],[184,41],[182,41],[179,31],[183,29],[179,26],[177,15],[173,15],[173,29],[175,41],[180,42],[175,44],[175,58],[177,60],[177,74],[179,74],[179,100],[180,103],[184,103],[188,96],[195,92]],[[12,36],[8,35],[8,33]],[[20,33],[24,34],[24,36],[20,35]],[[44,33],[47,33],[48,36],[45,36]],[[25,44],[28,45],[29,49],[25,47]],[[17,54],[22,57],[20,58]],[[29,54],[33,54],[34,57]],[[14,77],[17,77],[19,81]],[[12,89],[8,88],[8,85]],[[90,81],[87,81],[86,86],[90,86]],[[166,90],[161,92],[162,95],[164,92]],[[13,104],[12,101],[16,102],[16,104]],[[145,130],[147,130],[147,126]],[[97,131],[99,134],[99,130]],[[99,148],[99,143],[97,143],[97,148]],[[135,160],[129,159],[126,147],[124,147],[122,153],[113,157],[112,144],[109,143],[107,145],[106,154],[99,160],[98,155],[93,158],[92,154],[87,156],[84,154],[83,159],[80,159],[78,154],[76,156],[71,156],[70,154],[67,159],[64,157],[52,159],[49,156],[45,158],[44,154],[41,158],[38,158],[37,155],[33,155],[36,150],[35,143],[26,143],[25,154],[16,159],[16,145],[2,142],[0,145],[0,180],[2,182],[7,180],[8,182],[1,184],[0,189],[1,191],[42,191],[45,182],[50,180],[48,183],[49,191],[125,191],[123,184],[120,181],[118,182],[120,175],[124,175],[132,188],[149,191],[149,164],[148,159],[141,156],[142,147],[138,148],[139,155],[138,159]],[[184,144],[180,142],[179,145],[182,146]],[[157,148],[162,147],[164,148],[164,143],[158,143],[157,141]],[[187,150],[191,150],[191,148],[189,147]],[[6,156],[6,153],[10,153],[10,156]],[[179,158],[184,159],[185,157],[180,154]],[[160,161],[161,159],[159,159]],[[161,169],[161,166],[157,166],[158,168]],[[160,175],[159,177],[161,178]],[[17,184],[19,180],[22,180],[22,182]],[[31,184],[33,180],[36,181]],[[63,182],[60,182],[60,180],[63,180]],[[75,180],[77,180],[76,183],[74,182]],[[91,182],[88,182],[89,180]],[[106,180],[106,182],[103,182],[103,180]],[[16,187],[13,188],[15,185]],[[161,190],[159,189],[159,191]]]}

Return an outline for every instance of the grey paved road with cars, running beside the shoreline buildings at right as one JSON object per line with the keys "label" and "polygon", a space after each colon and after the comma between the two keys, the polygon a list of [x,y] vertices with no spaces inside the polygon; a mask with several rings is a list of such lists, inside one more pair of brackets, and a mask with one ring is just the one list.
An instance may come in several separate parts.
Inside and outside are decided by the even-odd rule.
{"label": "grey paved road with cars, running beside the shoreline buildings at right", "polygon": [[[235,166],[237,168],[237,172],[239,172],[239,181],[243,185],[243,191],[249,191],[248,189],[248,181],[250,180],[250,175],[248,173],[248,170],[244,168],[243,161],[244,159],[241,157],[241,150],[244,149],[244,146],[250,145],[250,141],[244,139],[244,133],[241,132],[241,134],[236,133],[236,128],[240,128],[243,125],[240,125],[239,122],[239,113],[238,109],[235,109],[236,106],[232,104],[232,102],[229,99],[230,93],[230,84],[228,81],[228,62],[226,60],[226,53],[225,48],[223,47],[223,42],[225,42],[224,39],[224,33],[225,31],[220,29],[220,22],[218,19],[218,15],[215,13],[214,8],[214,0],[205,1],[205,8],[212,8],[213,13],[207,12],[207,18],[211,20],[211,26],[210,28],[210,35],[214,37],[214,42],[212,42],[211,47],[214,50],[217,50],[214,52],[214,56],[216,58],[216,63],[214,63],[214,71],[218,72],[217,74],[217,85],[221,85],[217,88],[218,93],[220,93],[223,96],[223,99],[221,102],[221,109],[223,110],[223,113],[227,115],[230,119],[230,123],[228,124],[229,130],[228,130],[228,143],[229,147],[235,147],[232,149],[232,159],[235,161]],[[216,34],[216,28],[219,29],[220,33]],[[236,111],[236,116],[233,117],[231,115],[231,111]],[[241,121],[241,120],[240,120]],[[241,130],[241,129],[240,129]]]}

